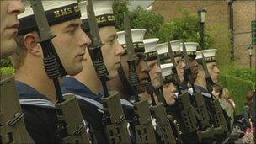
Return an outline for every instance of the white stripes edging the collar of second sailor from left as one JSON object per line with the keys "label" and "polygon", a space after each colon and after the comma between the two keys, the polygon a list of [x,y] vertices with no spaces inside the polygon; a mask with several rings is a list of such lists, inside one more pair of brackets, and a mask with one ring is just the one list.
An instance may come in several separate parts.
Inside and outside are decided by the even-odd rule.
{"label": "white stripes edging the collar of second sailor from left", "polygon": [[55,108],[55,104],[53,104],[50,100],[47,99],[19,99],[19,103],[23,105],[34,105]]}

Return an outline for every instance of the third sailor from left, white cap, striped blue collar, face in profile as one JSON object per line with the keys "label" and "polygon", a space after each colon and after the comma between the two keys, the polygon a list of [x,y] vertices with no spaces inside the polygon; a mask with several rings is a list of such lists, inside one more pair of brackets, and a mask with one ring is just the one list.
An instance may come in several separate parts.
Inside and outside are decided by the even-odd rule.
{"label": "third sailor from left, white cap, striped blue collar, face in profile", "polygon": [[[83,30],[88,33],[87,2],[79,3],[82,13]],[[113,1],[93,0],[93,9],[99,27],[99,36],[102,42],[101,52],[104,65],[108,71],[108,79],[118,76],[120,55],[124,53],[123,47],[118,43],[115,29],[115,16],[112,9]],[[102,104],[102,83],[93,66],[88,49],[83,57],[83,71],[73,77],[63,78],[63,93],[74,93],[77,96],[83,118],[93,131],[95,142],[106,143],[108,137],[104,132]]]}

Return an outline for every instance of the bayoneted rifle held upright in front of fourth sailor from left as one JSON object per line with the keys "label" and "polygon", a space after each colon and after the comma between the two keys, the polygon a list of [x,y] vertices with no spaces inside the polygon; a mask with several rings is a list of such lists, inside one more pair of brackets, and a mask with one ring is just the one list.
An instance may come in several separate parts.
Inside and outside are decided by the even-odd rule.
{"label": "bayoneted rifle held upright in front of fourth sailor from left", "polygon": [[148,109],[147,100],[139,100],[137,93],[137,86],[139,85],[139,80],[136,74],[136,61],[137,57],[134,52],[131,38],[131,27],[130,19],[125,15],[125,43],[127,45],[127,63],[129,67],[129,82],[133,88],[133,93],[135,95],[134,103],[134,123],[136,129],[136,143],[145,142],[145,143],[156,143],[155,131],[152,125],[150,110]]}

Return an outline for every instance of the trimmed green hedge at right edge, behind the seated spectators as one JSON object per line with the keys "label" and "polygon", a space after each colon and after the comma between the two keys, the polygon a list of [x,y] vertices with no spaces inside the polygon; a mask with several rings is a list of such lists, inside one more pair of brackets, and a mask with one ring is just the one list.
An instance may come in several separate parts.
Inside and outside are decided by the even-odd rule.
{"label": "trimmed green hedge at right edge, behind the seated spectators", "polygon": [[226,67],[221,70],[221,84],[229,89],[230,97],[236,103],[236,114],[243,113],[248,90],[255,88],[256,72],[250,69]]}

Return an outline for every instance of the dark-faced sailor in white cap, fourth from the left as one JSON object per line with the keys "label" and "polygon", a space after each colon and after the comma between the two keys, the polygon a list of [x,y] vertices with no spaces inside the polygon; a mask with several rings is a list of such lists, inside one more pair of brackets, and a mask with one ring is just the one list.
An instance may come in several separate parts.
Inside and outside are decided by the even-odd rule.
{"label": "dark-faced sailor in white cap, fourth from the left", "polygon": [[[145,52],[145,45],[143,43],[143,38],[146,33],[146,29],[131,29],[131,39],[133,49],[136,55],[136,75],[139,80],[139,85],[136,87],[137,93],[145,93],[146,92],[146,85],[147,85],[147,78],[149,69],[147,67],[147,63],[144,59],[144,52]],[[118,70],[119,77],[109,81],[110,88],[118,90],[121,93],[122,99],[128,101],[132,106],[125,107],[126,111],[129,112],[126,116],[126,119],[130,123],[130,130],[135,132],[135,126],[137,126],[135,118],[135,111],[133,105],[137,104],[135,101],[135,93],[134,89],[131,87],[131,83],[128,80],[129,77],[129,67],[128,67],[128,54],[127,54],[127,47],[125,41],[125,31],[118,32],[118,41],[120,45],[122,45],[125,49],[125,53],[120,57],[120,68]],[[143,101],[144,99],[139,97],[139,101]],[[149,109],[148,109],[149,110]],[[141,115],[139,115],[141,116]],[[146,132],[143,132],[146,133]],[[143,133],[141,135],[143,135]],[[147,134],[147,133],[146,133]],[[145,139],[145,138],[143,138]],[[148,138],[147,138],[148,139]],[[133,141],[138,140],[138,137],[133,137]]]}

